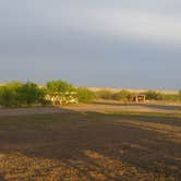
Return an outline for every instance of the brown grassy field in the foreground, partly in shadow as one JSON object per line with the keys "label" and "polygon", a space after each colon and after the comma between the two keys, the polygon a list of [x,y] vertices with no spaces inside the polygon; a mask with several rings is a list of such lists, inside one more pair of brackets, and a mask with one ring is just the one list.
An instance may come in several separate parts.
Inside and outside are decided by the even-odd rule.
{"label": "brown grassy field in the foreground, partly in shadow", "polygon": [[0,117],[0,181],[181,180],[181,113]]}

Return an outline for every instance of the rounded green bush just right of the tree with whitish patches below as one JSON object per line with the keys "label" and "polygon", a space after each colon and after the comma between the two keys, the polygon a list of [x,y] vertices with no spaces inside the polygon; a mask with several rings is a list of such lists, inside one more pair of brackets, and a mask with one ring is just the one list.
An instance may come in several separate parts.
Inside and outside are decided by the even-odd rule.
{"label": "rounded green bush just right of the tree with whitish patches below", "polygon": [[76,96],[80,102],[87,104],[95,99],[95,94],[87,88],[77,88],[76,93],[77,93]]}

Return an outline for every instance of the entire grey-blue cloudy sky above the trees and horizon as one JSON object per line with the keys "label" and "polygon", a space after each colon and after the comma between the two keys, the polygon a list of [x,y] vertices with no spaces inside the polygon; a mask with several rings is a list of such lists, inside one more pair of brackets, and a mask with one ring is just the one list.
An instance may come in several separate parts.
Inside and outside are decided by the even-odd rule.
{"label": "entire grey-blue cloudy sky above the trees and horizon", "polygon": [[180,0],[0,0],[0,83],[181,89]]}

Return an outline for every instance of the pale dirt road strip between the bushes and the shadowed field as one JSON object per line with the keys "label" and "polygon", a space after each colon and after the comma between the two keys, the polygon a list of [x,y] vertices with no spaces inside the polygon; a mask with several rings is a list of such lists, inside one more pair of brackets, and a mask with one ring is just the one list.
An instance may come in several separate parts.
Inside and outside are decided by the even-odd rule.
{"label": "pale dirt road strip between the bushes and the shadowed field", "polygon": [[101,100],[92,105],[77,105],[64,107],[45,107],[45,108],[14,108],[0,109],[0,117],[3,116],[25,116],[25,114],[46,114],[62,113],[69,111],[140,111],[140,112],[160,112],[160,113],[181,113],[181,104],[162,105],[162,104],[140,104],[125,105],[120,101]]}

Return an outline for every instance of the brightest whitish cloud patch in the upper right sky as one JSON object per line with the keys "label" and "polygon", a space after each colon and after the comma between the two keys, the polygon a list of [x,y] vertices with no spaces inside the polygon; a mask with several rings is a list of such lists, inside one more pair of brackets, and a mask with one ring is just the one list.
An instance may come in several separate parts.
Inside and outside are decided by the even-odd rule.
{"label": "brightest whitish cloud patch in the upper right sky", "polygon": [[[63,15],[62,15],[63,16]],[[106,37],[181,44],[181,17],[128,10],[84,10],[62,17],[62,26]]]}

